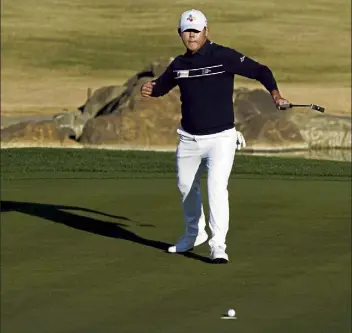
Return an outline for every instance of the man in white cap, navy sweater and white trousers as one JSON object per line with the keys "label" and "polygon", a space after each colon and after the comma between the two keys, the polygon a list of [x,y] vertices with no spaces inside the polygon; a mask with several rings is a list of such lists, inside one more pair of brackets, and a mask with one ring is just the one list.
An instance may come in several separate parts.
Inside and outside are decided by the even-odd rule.
{"label": "man in white cap, navy sweater and white trousers", "polygon": [[286,105],[271,70],[238,51],[208,39],[204,14],[181,15],[178,34],[186,52],[176,57],[156,80],[141,88],[143,97],[159,97],[176,85],[181,93],[181,124],[177,130],[177,182],[181,193],[185,232],[168,252],[186,252],[208,240],[200,193],[200,177],[207,169],[210,259],[227,263],[229,229],[228,179],[238,135],[234,125],[234,75],[255,79],[270,92],[273,102]]}

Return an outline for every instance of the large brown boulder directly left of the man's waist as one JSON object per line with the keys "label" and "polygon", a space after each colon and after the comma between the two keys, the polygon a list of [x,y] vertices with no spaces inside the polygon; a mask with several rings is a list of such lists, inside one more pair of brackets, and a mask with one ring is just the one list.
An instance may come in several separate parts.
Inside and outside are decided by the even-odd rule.
{"label": "large brown boulder directly left of the man's waist", "polygon": [[168,95],[134,99],[131,112],[126,106],[119,113],[90,119],[79,142],[83,145],[133,144],[142,146],[175,145],[180,122],[177,89]]}

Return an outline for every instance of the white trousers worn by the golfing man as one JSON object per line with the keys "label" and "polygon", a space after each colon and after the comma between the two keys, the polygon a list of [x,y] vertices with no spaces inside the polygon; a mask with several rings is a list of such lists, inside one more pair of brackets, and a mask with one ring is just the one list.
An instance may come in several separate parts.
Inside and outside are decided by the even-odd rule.
{"label": "white trousers worn by the golfing man", "polygon": [[236,151],[235,128],[211,135],[191,135],[178,129],[177,183],[185,218],[185,236],[204,232],[206,221],[200,177],[207,169],[210,247],[226,249],[229,229],[228,179]]}

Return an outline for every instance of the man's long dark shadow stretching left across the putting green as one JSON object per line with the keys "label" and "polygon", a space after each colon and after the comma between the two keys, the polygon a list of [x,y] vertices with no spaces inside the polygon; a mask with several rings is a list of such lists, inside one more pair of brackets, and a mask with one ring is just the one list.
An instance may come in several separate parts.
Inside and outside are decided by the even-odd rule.
{"label": "man's long dark shadow stretching left across the putting green", "polygon": [[[167,248],[171,245],[169,243],[147,239],[135,234],[132,231],[127,230],[129,225],[124,223],[114,223],[114,222],[105,222],[98,220],[92,217],[86,217],[66,210],[81,211],[94,213],[97,215],[115,218],[118,220],[135,222],[140,226],[153,226],[150,224],[143,224],[136,221],[133,221],[125,216],[116,216],[110,215],[102,212],[98,212],[92,209],[80,208],[74,206],[65,206],[65,205],[52,205],[52,204],[41,204],[34,202],[19,202],[19,201],[1,201],[0,212],[19,212],[31,216],[40,217],[52,222],[64,224],[68,227],[79,229],[82,231],[90,232],[96,235],[101,235],[105,237],[112,237],[130,241],[133,243],[141,244],[148,247],[153,247],[158,250],[167,251]],[[182,253],[183,256],[191,259],[200,260],[203,262],[209,262],[209,259],[203,256],[200,256],[196,253],[186,252]],[[170,254],[171,256],[171,254]]]}

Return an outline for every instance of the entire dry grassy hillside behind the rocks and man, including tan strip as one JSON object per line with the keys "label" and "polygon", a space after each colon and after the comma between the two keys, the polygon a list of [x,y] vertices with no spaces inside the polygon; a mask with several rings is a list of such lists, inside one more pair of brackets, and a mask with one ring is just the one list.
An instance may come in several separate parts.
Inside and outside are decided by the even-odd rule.
{"label": "entire dry grassy hillside behind the rocks and man, including tan strip", "polygon": [[[156,58],[183,52],[175,29],[189,6],[185,0],[5,0],[3,114],[76,108],[88,87],[120,84]],[[214,41],[272,68],[287,98],[350,112],[349,1],[203,0],[191,6],[207,14]]]}

